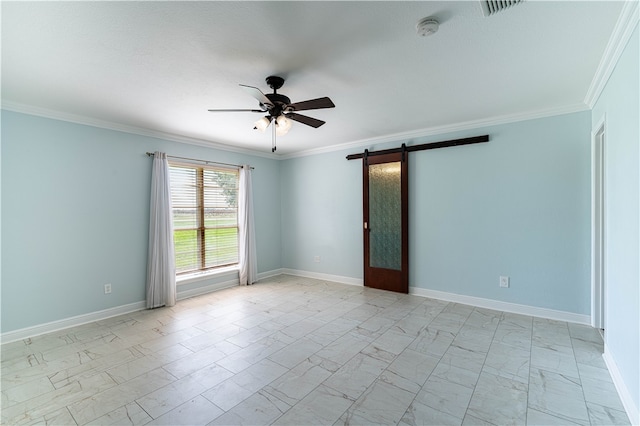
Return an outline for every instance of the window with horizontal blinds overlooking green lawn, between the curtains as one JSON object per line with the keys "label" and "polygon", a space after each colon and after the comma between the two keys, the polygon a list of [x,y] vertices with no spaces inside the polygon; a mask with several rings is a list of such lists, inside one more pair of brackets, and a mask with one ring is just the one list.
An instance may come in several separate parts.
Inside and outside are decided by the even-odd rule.
{"label": "window with horizontal blinds overlooking green lawn, between the curtains", "polygon": [[237,169],[169,164],[176,274],[238,263]]}

